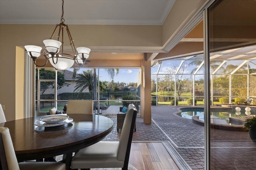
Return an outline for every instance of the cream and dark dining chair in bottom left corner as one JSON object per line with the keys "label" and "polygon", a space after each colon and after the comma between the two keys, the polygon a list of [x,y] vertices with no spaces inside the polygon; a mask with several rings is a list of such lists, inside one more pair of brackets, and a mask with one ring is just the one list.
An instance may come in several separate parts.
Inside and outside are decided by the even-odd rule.
{"label": "cream and dark dining chair in bottom left corner", "polygon": [[0,164],[2,170],[66,170],[66,164],[62,162],[18,163],[7,127],[0,127]]}

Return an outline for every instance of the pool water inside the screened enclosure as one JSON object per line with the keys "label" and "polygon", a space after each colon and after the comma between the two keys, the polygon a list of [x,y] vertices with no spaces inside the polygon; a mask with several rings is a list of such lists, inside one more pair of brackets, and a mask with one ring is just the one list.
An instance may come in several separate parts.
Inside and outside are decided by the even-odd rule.
{"label": "pool water inside the screened enclosure", "polygon": [[[193,109],[193,111],[182,110],[180,117],[185,117],[187,119],[192,119],[193,116],[199,116],[199,120],[204,121],[204,109]],[[212,111],[210,113],[210,122],[222,125],[240,125],[229,122],[230,117],[242,119],[246,114],[241,111],[240,115],[236,114],[236,111]]]}

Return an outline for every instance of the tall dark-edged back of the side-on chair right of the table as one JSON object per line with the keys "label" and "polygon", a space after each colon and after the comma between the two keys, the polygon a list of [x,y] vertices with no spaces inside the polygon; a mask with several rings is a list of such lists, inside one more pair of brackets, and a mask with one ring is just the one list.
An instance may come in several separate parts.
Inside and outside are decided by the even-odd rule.
{"label": "tall dark-edged back of the side-on chair right of the table", "polygon": [[124,166],[128,166],[136,115],[136,107],[134,104],[129,104],[127,113],[124,118],[124,124],[122,127],[117,152],[117,159],[124,161]]}

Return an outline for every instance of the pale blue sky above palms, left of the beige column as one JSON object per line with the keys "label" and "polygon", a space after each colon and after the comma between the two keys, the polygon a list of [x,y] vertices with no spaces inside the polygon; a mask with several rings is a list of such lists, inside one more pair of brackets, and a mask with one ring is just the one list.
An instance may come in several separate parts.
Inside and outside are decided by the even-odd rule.
{"label": "pale blue sky above palms, left of the beige column", "polygon": [[[80,68],[78,73],[82,73],[84,70],[88,70],[91,68]],[[73,69],[68,69],[70,71],[73,71]],[[114,82],[138,82],[138,72],[140,69],[135,68],[119,68],[119,73],[114,76]],[[96,72],[98,74],[98,69],[96,69]],[[100,81],[108,81],[110,82],[110,76],[108,75],[108,72],[105,71],[105,69],[100,69]]]}

